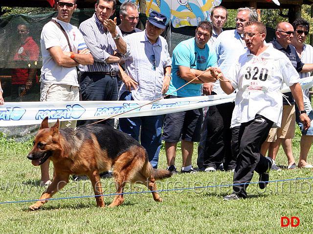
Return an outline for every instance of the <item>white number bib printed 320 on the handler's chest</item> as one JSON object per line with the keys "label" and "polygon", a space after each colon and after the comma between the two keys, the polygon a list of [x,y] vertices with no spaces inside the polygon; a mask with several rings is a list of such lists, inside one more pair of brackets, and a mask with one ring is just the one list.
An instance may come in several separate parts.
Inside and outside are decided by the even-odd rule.
{"label": "white number bib printed 320 on the handler's chest", "polygon": [[270,87],[270,74],[273,69],[273,65],[270,63],[270,59],[264,59],[257,56],[253,56],[241,68],[242,90],[248,92],[267,92]]}

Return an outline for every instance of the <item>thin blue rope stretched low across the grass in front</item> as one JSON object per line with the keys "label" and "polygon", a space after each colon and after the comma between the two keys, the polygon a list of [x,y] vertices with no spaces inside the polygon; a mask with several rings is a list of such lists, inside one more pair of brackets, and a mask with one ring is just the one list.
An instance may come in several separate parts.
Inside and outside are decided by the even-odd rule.
{"label": "thin blue rope stretched low across the grass in front", "polygon": [[[298,179],[288,179],[288,180],[264,181],[264,182],[271,183],[271,182],[283,182],[283,181],[305,180],[305,179],[313,179],[313,177],[298,178]],[[262,182],[253,182],[253,183],[243,183],[243,184],[236,184],[236,185],[252,185],[252,184],[259,184],[259,183],[264,183],[264,182],[262,181]],[[39,200],[25,200],[25,201],[13,201],[13,202],[0,202],[0,204],[19,203],[19,202],[50,201],[50,200],[70,199],[70,198],[86,198],[86,197],[99,197],[99,196],[113,196],[113,195],[122,195],[122,194],[125,195],[125,194],[135,194],[135,193],[146,193],[146,192],[164,192],[164,191],[174,191],[174,190],[209,188],[209,187],[226,187],[226,186],[234,186],[234,184],[230,184],[230,185],[217,185],[217,186],[203,186],[203,187],[173,188],[173,189],[166,189],[166,190],[154,190],[154,191],[142,191],[142,192],[113,193],[113,194],[90,195],[90,196],[79,196],[79,197],[61,197],[61,198],[50,198],[50,199],[41,199],[41,200],[39,199]]]}

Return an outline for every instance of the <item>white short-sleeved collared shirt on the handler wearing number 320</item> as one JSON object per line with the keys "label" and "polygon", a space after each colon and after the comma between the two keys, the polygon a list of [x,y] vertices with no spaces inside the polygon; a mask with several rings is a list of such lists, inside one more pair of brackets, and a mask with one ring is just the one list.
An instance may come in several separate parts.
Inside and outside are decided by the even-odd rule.
{"label": "white short-sleeved collared shirt on the handler wearing number 320", "polygon": [[234,89],[238,89],[231,128],[253,120],[256,114],[280,127],[283,112],[280,90],[283,83],[292,86],[300,80],[288,57],[273,47],[268,47],[259,56],[247,50],[234,61],[226,78]]}

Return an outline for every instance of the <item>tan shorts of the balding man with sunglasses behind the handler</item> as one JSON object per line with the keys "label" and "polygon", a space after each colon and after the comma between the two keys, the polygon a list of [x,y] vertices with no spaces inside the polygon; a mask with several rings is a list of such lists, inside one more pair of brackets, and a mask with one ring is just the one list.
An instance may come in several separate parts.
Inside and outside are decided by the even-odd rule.
{"label": "tan shorts of the balding man with sunglasses behind the handler", "polygon": [[275,142],[277,138],[293,139],[295,131],[295,107],[283,105],[282,125],[280,128],[271,128],[265,141]]}

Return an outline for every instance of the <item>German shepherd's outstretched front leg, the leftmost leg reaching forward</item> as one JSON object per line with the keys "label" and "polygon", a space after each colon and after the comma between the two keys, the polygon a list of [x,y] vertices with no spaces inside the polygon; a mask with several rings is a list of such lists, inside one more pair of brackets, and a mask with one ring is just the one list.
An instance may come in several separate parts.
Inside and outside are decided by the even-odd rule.
{"label": "German shepherd's outstretched front leg, the leftmost leg reaching forward", "polygon": [[41,197],[39,198],[39,200],[42,201],[37,201],[35,204],[31,205],[29,207],[29,210],[36,211],[41,208],[45,204],[45,202],[47,202],[45,199],[50,199],[53,194],[57,193],[64,186],[66,186],[66,184],[68,183],[68,177],[68,174],[55,174],[52,183],[47,189],[45,189],[43,195],[41,195]]}

